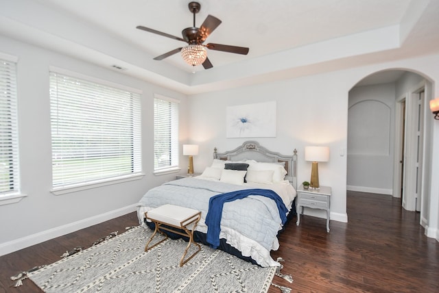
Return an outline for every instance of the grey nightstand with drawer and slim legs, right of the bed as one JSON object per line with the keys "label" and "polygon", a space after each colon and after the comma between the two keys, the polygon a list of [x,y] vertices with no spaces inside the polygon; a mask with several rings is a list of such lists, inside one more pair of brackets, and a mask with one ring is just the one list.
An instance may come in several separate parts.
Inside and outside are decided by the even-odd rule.
{"label": "grey nightstand with drawer and slim legs, right of the bed", "polygon": [[[325,209],[327,211],[327,232],[329,232],[329,213],[332,190],[328,186],[320,186],[320,189],[297,189],[297,225],[300,224],[300,214],[303,214],[304,207],[311,209]],[[300,209],[302,207],[302,209]]]}

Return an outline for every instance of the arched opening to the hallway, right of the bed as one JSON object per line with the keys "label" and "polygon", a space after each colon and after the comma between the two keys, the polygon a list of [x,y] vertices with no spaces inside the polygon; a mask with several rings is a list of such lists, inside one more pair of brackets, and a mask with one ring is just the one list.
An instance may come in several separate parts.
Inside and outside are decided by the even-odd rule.
{"label": "arched opening to the hallway, right of the bed", "polygon": [[427,212],[425,104],[431,82],[405,70],[374,73],[349,92],[347,189],[401,197]]}

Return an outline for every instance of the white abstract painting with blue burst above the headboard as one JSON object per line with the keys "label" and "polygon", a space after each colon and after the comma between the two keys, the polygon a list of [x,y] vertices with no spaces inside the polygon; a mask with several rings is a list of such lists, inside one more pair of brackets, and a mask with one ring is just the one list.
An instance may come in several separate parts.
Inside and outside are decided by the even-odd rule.
{"label": "white abstract painting with blue burst above the headboard", "polygon": [[227,107],[227,138],[276,137],[276,101]]}

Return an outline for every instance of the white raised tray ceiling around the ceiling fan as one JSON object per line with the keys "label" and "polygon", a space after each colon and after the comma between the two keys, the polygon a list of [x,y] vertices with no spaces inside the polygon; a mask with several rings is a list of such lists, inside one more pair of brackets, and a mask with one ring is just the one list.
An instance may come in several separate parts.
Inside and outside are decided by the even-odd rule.
{"label": "white raised tray ceiling around the ceiling fan", "polygon": [[0,33],[99,66],[194,94],[261,81],[437,53],[437,0],[200,0],[222,21],[206,42],[250,47],[248,55],[208,50],[213,68],[192,68],[180,54],[189,1],[0,0]]}

